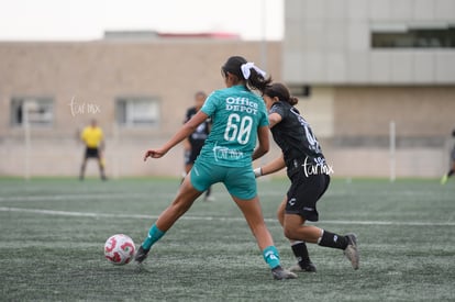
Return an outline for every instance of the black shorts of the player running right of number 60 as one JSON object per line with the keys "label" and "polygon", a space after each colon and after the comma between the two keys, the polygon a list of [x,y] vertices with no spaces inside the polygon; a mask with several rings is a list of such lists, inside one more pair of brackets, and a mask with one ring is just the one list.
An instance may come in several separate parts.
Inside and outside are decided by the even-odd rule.
{"label": "black shorts of the player running right of number 60", "polygon": [[308,221],[318,221],[318,200],[329,188],[330,176],[325,174],[309,175],[299,169],[291,177],[291,187],[287,193],[288,202],[285,212],[298,214]]}

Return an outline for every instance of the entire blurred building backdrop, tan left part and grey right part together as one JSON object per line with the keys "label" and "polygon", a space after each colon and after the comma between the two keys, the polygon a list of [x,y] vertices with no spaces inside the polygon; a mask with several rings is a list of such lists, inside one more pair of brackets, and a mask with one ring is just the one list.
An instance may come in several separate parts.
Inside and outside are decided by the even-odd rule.
{"label": "entire blurred building backdrop, tan left part and grey right part together", "polygon": [[0,42],[0,175],[77,177],[78,131],[97,119],[109,176],[179,176],[181,148],[153,164],[143,153],[243,55],[299,97],[335,177],[441,176],[455,127],[455,1],[286,0],[285,13],[282,42],[147,31]]}

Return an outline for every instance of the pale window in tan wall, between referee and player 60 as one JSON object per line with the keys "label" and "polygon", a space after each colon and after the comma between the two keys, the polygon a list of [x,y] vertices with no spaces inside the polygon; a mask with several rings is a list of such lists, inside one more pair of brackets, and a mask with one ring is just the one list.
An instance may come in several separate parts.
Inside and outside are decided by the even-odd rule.
{"label": "pale window in tan wall, between referee and player 60", "polygon": [[153,97],[118,98],[116,122],[122,126],[157,126],[159,124],[159,101]]}

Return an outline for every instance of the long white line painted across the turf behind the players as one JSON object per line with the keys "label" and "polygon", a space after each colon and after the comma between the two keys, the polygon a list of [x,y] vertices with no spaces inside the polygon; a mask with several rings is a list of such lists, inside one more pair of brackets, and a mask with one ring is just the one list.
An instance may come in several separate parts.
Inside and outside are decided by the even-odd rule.
{"label": "long white line painted across the turf behind the players", "polygon": [[[90,212],[73,212],[73,211],[55,211],[41,209],[23,209],[0,206],[0,212],[19,212],[33,213],[55,216],[77,216],[77,217],[121,217],[121,219],[144,219],[152,220],[158,216],[141,215],[141,214],[113,214],[113,213],[90,213]],[[182,216],[182,220],[199,221],[244,221],[243,217],[214,217],[214,216]],[[265,219],[266,222],[276,222],[275,219]],[[320,221],[321,224],[347,224],[347,225],[402,225],[402,226],[455,226],[455,222],[393,222],[393,221]]]}

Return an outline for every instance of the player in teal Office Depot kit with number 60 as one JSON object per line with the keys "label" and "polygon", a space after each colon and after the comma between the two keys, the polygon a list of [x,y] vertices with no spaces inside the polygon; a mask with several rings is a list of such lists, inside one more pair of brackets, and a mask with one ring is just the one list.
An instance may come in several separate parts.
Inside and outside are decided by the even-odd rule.
{"label": "player in teal Office Depot kit with number 60", "polygon": [[202,109],[162,147],[145,153],[144,160],[163,157],[211,118],[211,132],[195,166],[186,176],[177,197],[149,228],[135,261],[142,264],[152,246],[190,209],[195,200],[213,183],[222,182],[245,216],[273,277],[278,280],[297,278],[280,266],[278,250],[264,222],[252,166],[254,159],[269,149],[269,123],[264,100],[251,89],[263,93],[271,79],[240,56],[230,57],[221,72],[226,88],[213,91]]}

